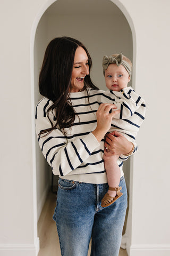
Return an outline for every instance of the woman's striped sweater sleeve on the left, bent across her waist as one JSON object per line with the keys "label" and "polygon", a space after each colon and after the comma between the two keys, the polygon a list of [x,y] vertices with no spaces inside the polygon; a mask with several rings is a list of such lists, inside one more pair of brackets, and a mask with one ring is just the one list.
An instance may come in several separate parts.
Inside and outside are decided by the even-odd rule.
{"label": "woman's striped sweater sleeve on the left, bent across her waist", "polygon": [[[41,101],[36,107],[36,134],[39,146],[53,173],[65,176],[86,161],[99,146],[99,142],[91,132],[81,138],[66,137],[60,129],[39,135],[40,131],[51,127],[45,105],[44,101]],[[53,111],[50,111],[49,118],[52,122],[55,120]]]}

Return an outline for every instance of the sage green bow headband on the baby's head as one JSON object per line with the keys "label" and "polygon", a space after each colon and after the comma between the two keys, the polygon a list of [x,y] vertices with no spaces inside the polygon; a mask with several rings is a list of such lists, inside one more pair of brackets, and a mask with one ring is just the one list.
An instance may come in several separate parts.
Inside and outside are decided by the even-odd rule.
{"label": "sage green bow headband on the baby's head", "polygon": [[125,60],[123,60],[123,55],[122,53],[120,54],[117,54],[116,57],[114,56],[109,56],[107,57],[106,55],[103,57],[103,63],[102,63],[102,66],[103,66],[103,74],[105,75],[105,70],[108,68],[108,66],[111,64],[111,63],[116,63],[117,66],[120,66],[122,65],[126,71],[128,72],[129,76],[131,77],[132,75],[132,68],[131,66],[129,65],[129,63]]}

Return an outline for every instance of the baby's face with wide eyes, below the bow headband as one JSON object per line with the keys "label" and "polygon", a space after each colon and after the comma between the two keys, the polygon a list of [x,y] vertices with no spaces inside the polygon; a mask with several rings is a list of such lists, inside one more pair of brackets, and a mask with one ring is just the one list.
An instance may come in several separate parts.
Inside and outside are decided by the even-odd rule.
{"label": "baby's face with wide eyes, below the bow headband", "polygon": [[129,81],[128,71],[122,65],[117,66],[116,63],[112,63],[105,70],[105,82],[109,90],[119,92],[128,86]]}

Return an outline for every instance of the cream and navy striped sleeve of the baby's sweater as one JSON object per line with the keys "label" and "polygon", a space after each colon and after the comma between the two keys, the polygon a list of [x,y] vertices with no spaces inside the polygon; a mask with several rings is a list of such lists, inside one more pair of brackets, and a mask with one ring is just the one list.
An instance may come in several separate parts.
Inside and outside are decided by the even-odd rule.
{"label": "cream and navy striped sleeve of the baby's sweater", "polygon": [[[120,114],[114,116],[116,119],[130,118],[141,106],[145,106],[145,100],[143,100],[132,87],[125,87],[120,92],[110,91],[113,94],[113,102],[117,109],[120,109]],[[145,116],[145,107],[141,108],[143,111],[140,113]],[[141,110],[140,110],[141,111]]]}

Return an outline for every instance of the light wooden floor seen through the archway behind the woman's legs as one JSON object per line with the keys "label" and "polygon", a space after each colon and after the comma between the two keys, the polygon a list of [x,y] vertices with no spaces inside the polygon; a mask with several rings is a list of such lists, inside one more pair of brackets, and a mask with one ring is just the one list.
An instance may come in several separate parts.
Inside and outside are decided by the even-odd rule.
{"label": "light wooden floor seen through the archway behind the woman's legs", "polygon": [[[55,206],[56,194],[49,191],[38,221],[38,237],[40,239],[38,256],[61,256],[56,223],[52,218]],[[88,253],[88,256],[90,256],[90,252]],[[128,254],[126,253],[126,250],[120,249],[119,256],[128,256]]]}

